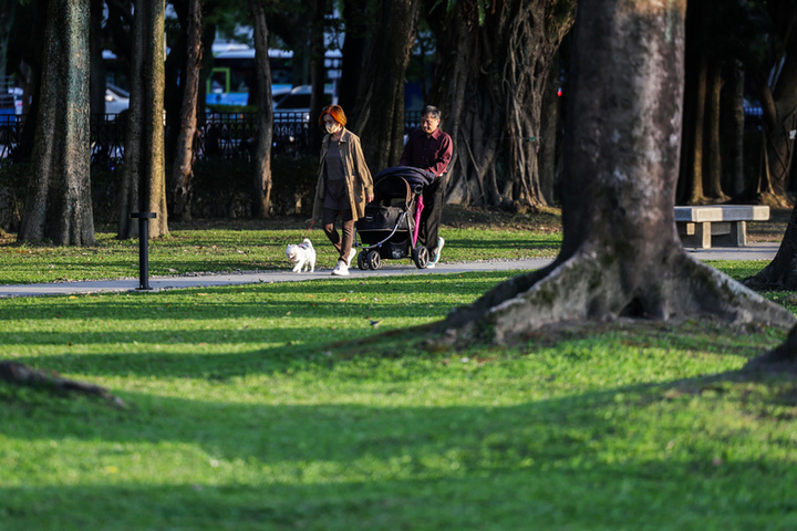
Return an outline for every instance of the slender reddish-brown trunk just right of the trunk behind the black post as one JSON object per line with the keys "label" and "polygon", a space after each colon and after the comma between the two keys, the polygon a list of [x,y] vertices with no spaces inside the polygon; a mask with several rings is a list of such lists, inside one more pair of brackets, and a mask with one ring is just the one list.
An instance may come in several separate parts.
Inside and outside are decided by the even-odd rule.
{"label": "slender reddish-brown trunk just right of the trunk behind the black post", "polygon": [[190,219],[190,191],[194,177],[194,140],[197,134],[197,106],[199,103],[199,73],[201,70],[201,0],[188,0],[186,24],[185,90],[180,107],[180,127],[177,135],[172,181],[174,214]]}

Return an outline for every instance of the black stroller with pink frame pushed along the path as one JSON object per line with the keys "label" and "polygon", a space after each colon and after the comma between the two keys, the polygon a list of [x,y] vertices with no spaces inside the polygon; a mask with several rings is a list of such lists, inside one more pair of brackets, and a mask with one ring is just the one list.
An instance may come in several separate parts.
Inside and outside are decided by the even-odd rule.
{"label": "black stroller with pink frame pushed along the path", "polygon": [[374,200],[354,223],[362,240],[358,254],[361,270],[380,269],[382,260],[411,257],[418,269],[429,262],[426,247],[418,244],[418,220],[423,210],[423,187],[434,175],[418,168],[396,166],[374,176]]}

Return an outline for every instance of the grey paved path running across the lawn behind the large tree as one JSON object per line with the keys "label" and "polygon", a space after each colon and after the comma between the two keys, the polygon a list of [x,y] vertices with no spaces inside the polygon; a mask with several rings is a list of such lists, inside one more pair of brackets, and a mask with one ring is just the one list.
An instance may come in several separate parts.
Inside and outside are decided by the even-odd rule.
{"label": "grey paved path running across the lawn behind the large tree", "polygon": [[[779,243],[751,243],[743,248],[687,249],[698,260],[763,260],[775,257]],[[352,268],[349,279],[384,277],[392,274],[449,274],[472,271],[536,270],[549,264],[550,259],[529,260],[485,260],[464,263],[438,263],[434,269],[417,269],[406,260],[390,261],[377,271],[360,271]],[[286,264],[287,266],[287,264]],[[762,268],[764,263],[762,264]],[[341,279],[332,277],[331,269],[320,269],[314,273],[293,273],[290,270],[259,271],[241,273],[206,273],[194,277],[152,277],[149,287],[154,290],[174,290],[180,288],[208,288],[215,285],[257,284],[270,282],[291,282],[299,280]],[[0,298],[70,295],[77,293],[136,291],[139,279],[90,280],[76,282],[46,282],[41,284],[0,285]]]}

